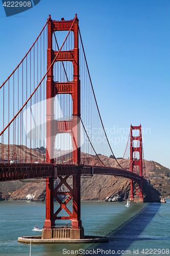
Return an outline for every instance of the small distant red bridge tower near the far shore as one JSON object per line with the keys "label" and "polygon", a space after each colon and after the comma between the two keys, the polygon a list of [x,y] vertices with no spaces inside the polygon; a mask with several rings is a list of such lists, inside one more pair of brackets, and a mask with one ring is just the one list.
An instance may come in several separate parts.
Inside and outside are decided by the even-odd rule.
{"label": "small distant red bridge tower near the far shore", "polygon": [[[133,136],[133,130],[139,130],[139,136]],[[133,145],[133,141],[137,141],[137,145]],[[139,159],[135,160],[135,152],[139,152]],[[131,140],[130,140],[130,171],[135,172],[135,168],[138,166],[139,175],[142,177],[142,136],[141,136],[141,124],[139,126],[131,125]],[[136,168],[137,169],[137,168]],[[142,191],[142,179],[140,182],[131,180],[131,196],[130,200],[134,202],[143,202]]]}

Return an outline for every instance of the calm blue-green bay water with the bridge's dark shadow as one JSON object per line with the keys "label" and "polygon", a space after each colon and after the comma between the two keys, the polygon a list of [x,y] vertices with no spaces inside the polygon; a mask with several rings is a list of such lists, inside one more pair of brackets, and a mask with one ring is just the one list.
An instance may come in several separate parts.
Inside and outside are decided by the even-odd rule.
{"label": "calm blue-green bay water with the bridge's dark shadow", "polygon": [[[79,249],[86,253],[90,251],[91,255],[104,255],[104,252],[113,255],[114,251],[121,255],[126,250],[131,255],[170,254],[167,250],[170,250],[170,200],[166,204],[131,203],[130,207],[125,207],[125,203],[82,202],[81,212],[85,234],[107,235],[109,242],[32,244],[31,255],[76,255],[75,250]],[[44,219],[44,202],[0,201],[0,254],[29,256],[30,245],[17,242],[17,238],[38,234],[32,229],[35,225],[42,228]],[[63,249],[69,250],[70,254],[63,254]],[[102,249],[103,253],[100,252]]]}

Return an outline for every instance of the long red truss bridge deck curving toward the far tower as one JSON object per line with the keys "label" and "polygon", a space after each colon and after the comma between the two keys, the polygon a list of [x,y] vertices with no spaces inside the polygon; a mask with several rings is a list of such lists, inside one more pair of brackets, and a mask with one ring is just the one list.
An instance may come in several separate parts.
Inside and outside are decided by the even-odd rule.
{"label": "long red truss bridge deck curving toward the far tower", "polygon": [[128,170],[88,166],[88,165],[66,165],[66,164],[0,164],[0,182],[22,179],[48,178],[65,175],[76,175],[78,168],[81,168],[81,175],[114,175],[135,181],[145,179],[138,174]]}

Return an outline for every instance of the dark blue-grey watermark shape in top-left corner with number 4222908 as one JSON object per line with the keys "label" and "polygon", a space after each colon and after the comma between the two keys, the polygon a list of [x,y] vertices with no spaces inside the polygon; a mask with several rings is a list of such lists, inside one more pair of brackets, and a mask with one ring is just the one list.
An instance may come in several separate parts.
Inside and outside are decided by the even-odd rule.
{"label": "dark blue-grey watermark shape in top-left corner with number 4222908", "polygon": [[15,14],[18,14],[20,12],[25,12],[31,8],[33,8],[34,6],[38,5],[38,3],[40,2],[40,0],[25,0],[25,1],[4,1],[3,2],[3,6],[4,6],[4,10],[6,13],[6,16],[12,16]]}

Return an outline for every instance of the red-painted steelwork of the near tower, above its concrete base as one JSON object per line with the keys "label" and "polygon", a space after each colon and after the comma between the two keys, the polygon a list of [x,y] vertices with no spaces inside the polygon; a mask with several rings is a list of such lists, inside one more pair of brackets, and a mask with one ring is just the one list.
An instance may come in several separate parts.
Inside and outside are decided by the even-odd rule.
{"label": "red-painted steelwork of the near tower, above its concrete base", "polygon": [[[72,26],[72,31],[74,32],[74,49],[71,51],[53,51],[52,46],[52,35],[56,30],[70,30],[71,22],[74,23]],[[50,103],[46,105],[46,162],[53,163],[54,159],[51,159],[50,156],[54,155],[54,139],[53,136],[58,133],[67,132],[70,133],[72,138],[72,144],[74,144],[74,151],[72,153],[72,160],[75,165],[81,163],[80,160],[80,79],[79,79],[79,34],[78,34],[78,18],[77,15],[74,21],[70,22],[53,22],[50,18],[48,20],[48,49],[47,49],[47,69],[51,66],[52,60],[55,56],[55,61],[72,61],[74,68],[74,79],[71,82],[59,83],[53,81],[53,66],[47,73],[46,81],[46,99],[51,99]],[[57,87],[57,90],[55,90]],[[71,89],[71,90],[70,90]],[[67,93],[71,94],[72,102],[72,120],[69,121],[56,121],[51,120],[54,116],[54,101],[52,98],[56,94]],[[56,128],[54,128],[56,127]],[[48,149],[48,150],[47,150]],[[80,177],[81,170],[78,167],[76,175],[72,176],[72,189],[70,189],[70,197],[72,198],[72,214],[69,214],[69,219],[71,220],[72,228],[81,228],[81,219],[80,219]],[[61,184],[65,180],[60,177]],[[50,228],[54,226],[55,220],[58,219],[57,215],[60,210],[63,208],[67,212],[66,203],[62,203],[61,200],[57,197],[57,190],[54,191],[54,181],[53,179],[46,179],[46,219],[44,222],[44,228]],[[54,194],[55,193],[55,194]],[[54,214],[54,197],[60,203],[60,208]],[[66,202],[68,202],[67,200]],[[63,219],[68,219],[68,217],[63,217]]]}

